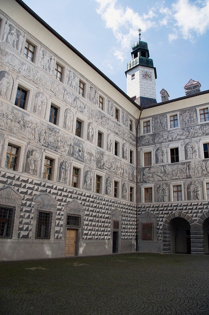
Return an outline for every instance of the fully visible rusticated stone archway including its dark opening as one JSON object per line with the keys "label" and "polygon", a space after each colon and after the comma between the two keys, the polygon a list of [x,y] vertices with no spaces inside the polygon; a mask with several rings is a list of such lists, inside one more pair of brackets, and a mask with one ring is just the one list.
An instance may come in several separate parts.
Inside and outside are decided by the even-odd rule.
{"label": "fully visible rusticated stone archway including its dark opening", "polygon": [[[194,221],[190,215],[180,210],[168,215],[162,226],[163,253],[190,253],[192,252],[192,242],[190,243],[190,231]],[[190,245],[191,244],[191,245]]]}

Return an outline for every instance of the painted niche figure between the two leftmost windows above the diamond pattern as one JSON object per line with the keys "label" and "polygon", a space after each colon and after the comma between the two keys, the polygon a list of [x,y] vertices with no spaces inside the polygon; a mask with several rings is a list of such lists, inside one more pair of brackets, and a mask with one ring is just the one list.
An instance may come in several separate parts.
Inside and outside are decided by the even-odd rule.
{"label": "painted niche figure between the two leftmost windows above the diamond pattern", "polygon": [[38,175],[40,164],[40,151],[35,147],[29,147],[26,154],[25,173]]}

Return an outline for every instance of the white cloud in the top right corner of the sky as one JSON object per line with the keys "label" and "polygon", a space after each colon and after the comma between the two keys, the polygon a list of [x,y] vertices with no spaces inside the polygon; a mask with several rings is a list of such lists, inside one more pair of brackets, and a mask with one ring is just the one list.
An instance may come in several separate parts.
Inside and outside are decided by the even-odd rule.
{"label": "white cloud in the top right corner of the sky", "polygon": [[172,4],[174,19],[185,39],[193,39],[194,33],[202,35],[209,28],[209,0],[178,0]]}

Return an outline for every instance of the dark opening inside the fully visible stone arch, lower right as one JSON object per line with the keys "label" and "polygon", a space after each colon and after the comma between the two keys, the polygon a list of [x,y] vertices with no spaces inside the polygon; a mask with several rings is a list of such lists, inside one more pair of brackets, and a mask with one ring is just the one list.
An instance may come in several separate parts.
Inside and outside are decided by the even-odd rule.
{"label": "dark opening inside the fully visible stone arch, lower right", "polygon": [[171,253],[191,254],[190,224],[177,217],[170,221]]}

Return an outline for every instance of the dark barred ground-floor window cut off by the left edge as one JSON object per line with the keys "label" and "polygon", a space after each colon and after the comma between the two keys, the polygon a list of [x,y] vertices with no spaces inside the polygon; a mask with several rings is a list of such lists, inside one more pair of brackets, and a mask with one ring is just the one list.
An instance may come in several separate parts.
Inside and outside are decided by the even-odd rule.
{"label": "dark barred ground-floor window cut off by the left edge", "polygon": [[14,208],[0,206],[0,237],[12,238]]}

